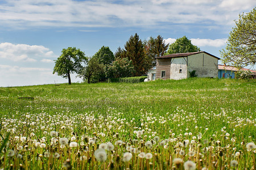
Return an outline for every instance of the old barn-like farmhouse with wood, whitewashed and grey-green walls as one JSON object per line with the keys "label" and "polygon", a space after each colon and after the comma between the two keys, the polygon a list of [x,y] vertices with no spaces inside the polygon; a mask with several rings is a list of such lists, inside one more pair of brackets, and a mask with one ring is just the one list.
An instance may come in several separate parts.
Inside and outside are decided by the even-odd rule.
{"label": "old barn-like farmhouse with wood, whitewashed and grey-green walls", "polygon": [[189,72],[196,71],[198,77],[218,76],[218,57],[207,52],[179,53],[156,57],[156,67],[148,71],[148,80],[185,79]]}

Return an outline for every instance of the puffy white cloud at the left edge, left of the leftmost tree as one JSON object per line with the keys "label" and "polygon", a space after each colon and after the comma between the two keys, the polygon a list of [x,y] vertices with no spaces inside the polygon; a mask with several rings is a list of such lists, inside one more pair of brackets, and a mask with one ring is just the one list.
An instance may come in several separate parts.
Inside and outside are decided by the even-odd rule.
{"label": "puffy white cloud at the left edge, left of the leftmost tree", "polygon": [[15,62],[35,62],[38,58],[44,57],[54,57],[54,54],[42,45],[0,43],[0,58]]}

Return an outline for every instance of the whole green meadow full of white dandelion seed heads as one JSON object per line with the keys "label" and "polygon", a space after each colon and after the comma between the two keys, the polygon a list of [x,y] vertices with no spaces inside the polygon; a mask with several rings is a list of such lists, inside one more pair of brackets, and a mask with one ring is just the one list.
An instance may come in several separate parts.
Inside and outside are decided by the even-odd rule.
{"label": "whole green meadow full of white dandelion seed heads", "polygon": [[0,169],[256,169],[256,80],[0,88]]}

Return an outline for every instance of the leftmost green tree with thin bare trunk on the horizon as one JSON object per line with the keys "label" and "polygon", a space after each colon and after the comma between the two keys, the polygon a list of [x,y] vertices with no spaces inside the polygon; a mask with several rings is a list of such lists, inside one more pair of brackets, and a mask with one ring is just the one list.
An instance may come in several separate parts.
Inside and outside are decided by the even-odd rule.
{"label": "leftmost green tree with thin bare trunk on the horizon", "polygon": [[55,60],[53,74],[68,78],[68,84],[71,84],[71,74],[79,73],[82,69],[82,63],[86,63],[88,58],[85,57],[84,52],[75,47],[68,47],[63,49],[60,57]]}

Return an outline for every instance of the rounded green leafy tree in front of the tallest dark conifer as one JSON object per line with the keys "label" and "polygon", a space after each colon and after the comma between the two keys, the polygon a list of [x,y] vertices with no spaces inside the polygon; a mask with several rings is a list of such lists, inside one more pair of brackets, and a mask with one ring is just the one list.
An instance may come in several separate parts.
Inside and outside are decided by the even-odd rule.
{"label": "rounded green leafy tree in front of the tallest dark conifer", "polygon": [[134,72],[133,63],[128,58],[117,58],[106,68],[106,76],[110,78],[132,76]]}

